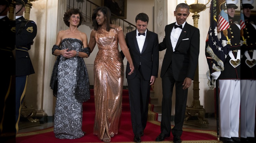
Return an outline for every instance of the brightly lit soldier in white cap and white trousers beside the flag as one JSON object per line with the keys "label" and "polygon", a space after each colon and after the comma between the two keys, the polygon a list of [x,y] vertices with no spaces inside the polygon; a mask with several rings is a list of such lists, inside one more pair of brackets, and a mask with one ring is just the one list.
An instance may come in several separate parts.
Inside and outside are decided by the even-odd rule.
{"label": "brightly lit soldier in white cap and white trousers beside the flag", "polygon": [[226,0],[226,11],[230,27],[229,52],[224,61],[224,70],[215,71],[211,75],[219,79],[220,89],[220,140],[224,143],[240,143],[239,111],[240,111],[240,25],[233,23],[238,0]]}

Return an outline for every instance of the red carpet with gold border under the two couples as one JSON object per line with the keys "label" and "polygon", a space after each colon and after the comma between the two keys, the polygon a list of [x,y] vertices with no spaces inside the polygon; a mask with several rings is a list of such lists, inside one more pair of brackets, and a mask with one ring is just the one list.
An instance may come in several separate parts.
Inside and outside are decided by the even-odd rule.
{"label": "red carpet with gold border under the two couples", "polygon": [[[91,95],[93,90],[91,89]],[[82,130],[86,132],[85,136],[78,139],[58,139],[54,137],[53,127],[28,133],[18,133],[16,136],[16,143],[85,143],[85,142],[101,142],[96,135],[93,135],[93,124],[95,116],[94,97],[83,103],[83,125]],[[142,142],[155,142],[156,137],[160,133],[159,121],[148,121],[144,136],[141,137]],[[130,116],[129,96],[128,90],[123,91],[123,106],[121,127],[119,133],[111,138],[111,142],[133,142],[133,131]],[[205,130],[191,130],[183,128],[181,136],[182,142],[185,143],[207,143],[217,142],[217,133],[215,131]],[[173,140],[171,135],[165,141],[160,143],[170,142]]]}

